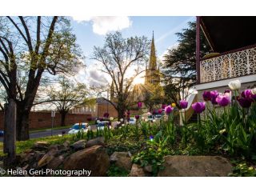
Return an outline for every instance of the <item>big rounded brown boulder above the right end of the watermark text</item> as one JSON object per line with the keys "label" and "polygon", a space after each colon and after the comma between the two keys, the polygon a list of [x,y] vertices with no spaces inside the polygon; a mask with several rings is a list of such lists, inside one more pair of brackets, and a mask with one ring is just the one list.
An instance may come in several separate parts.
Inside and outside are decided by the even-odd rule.
{"label": "big rounded brown boulder above the right end of the watermark text", "polygon": [[105,176],[110,159],[102,146],[92,146],[71,154],[64,162],[64,170],[91,170],[90,176]]}

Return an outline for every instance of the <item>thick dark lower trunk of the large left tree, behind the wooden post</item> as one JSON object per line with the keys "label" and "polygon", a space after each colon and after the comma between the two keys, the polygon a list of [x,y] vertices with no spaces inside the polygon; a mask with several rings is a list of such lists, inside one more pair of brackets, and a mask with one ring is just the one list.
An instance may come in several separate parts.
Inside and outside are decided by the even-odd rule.
{"label": "thick dark lower trunk of the large left tree, behind the wooden post", "polygon": [[26,141],[30,139],[29,126],[30,108],[23,103],[19,103],[17,107],[17,140]]}

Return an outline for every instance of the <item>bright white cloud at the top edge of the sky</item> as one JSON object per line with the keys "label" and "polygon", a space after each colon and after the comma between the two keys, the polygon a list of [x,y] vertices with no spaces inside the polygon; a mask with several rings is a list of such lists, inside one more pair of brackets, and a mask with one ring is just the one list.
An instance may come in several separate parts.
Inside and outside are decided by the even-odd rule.
{"label": "bright white cloud at the top edge of the sky", "polygon": [[110,31],[123,30],[132,25],[129,17],[115,16],[74,16],[72,17],[77,22],[91,22],[95,34],[104,35]]}

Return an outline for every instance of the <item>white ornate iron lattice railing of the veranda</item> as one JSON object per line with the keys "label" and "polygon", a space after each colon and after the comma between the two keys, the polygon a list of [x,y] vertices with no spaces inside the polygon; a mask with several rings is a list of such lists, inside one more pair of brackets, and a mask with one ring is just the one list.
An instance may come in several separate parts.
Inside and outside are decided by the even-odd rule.
{"label": "white ornate iron lattice railing of the veranda", "polygon": [[200,62],[200,82],[256,74],[256,47]]}

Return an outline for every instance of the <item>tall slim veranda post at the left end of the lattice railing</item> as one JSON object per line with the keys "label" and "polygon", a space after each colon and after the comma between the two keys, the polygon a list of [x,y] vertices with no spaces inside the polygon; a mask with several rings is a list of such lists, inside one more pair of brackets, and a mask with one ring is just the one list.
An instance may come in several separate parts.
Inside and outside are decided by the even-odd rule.
{"label": "tall slim veranda post at the left end of the lattice railing", "polygon": [[197,84],[200,83],[200,16],[197,16],[196,24],[196,70]]}

